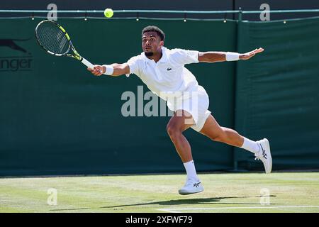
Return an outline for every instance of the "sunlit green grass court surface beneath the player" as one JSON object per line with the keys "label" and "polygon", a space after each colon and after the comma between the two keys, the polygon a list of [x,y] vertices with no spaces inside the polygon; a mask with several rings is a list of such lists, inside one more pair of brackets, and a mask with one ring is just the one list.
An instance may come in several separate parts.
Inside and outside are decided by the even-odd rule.
{"label": "sunlit green grass court surface beneath the player", "polygon": [[199,176],[205,191],[189,196],[185,175],[2,178],[0,212],[319,212],[319,172]]}

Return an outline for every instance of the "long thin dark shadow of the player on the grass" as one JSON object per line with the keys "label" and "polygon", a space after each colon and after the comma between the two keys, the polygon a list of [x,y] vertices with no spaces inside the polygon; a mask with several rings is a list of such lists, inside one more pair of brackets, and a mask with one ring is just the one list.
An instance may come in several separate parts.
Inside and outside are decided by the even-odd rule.
{"label": "long thin dark shadow of the player on the grass", "polygon": [[[261,198],[263,196],[230,196],[230,197],[216,197],[216,198],[200,198],[200,199],[174,199],[168,201],[154,201],[150,203],[141,203],[141,204],[124,204],[124,205],[117,205],[117,206],[102,206],[95,209],[108,209],[108,208],[123,208],[128,206],[146,206],[146,205],[162,205],[162,206],[174,206],[174,205],[187,205],[187,204],[228,204],[228,205],[260,205],[260,203],[233,203],[233,202],[220,202],[223,199],[248,199],[248,198]],[[276,197],[275,195],[269,195],[269,197]],[[275,204],[272,204],[275,205]],[[94,209],[91,208],[79,208],[79,209],[55,209],[50,211],[76,211],[76,210],[83,210],[83,209]]]}

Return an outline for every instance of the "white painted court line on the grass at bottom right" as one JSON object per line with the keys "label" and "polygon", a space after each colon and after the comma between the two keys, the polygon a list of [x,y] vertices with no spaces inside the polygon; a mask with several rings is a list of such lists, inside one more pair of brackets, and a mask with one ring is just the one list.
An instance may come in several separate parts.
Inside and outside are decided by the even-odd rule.
{"label": "white painted court line on the grass at bottom right", "polygon": [[227,210],[227,209],[278,209],[278,208],[319,208],[319,206],[234,206],[234,207],[203,207],[203,208],[172,208],[157,209],[169,213],[181,213],[181,211],[198,211],[198,210]]}

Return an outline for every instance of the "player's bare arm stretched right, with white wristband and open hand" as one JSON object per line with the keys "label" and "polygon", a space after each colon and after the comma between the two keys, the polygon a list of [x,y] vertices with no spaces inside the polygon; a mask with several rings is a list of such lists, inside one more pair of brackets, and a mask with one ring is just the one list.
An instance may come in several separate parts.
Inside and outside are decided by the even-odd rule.
{"label": "player's bare arm stretched right, with white wristband and open hand", "polygon": [[263,52],[263,48],[258,48],[243,54],[237,52],[199,52],[198,62],[225,62],[232,60],[248,60],[259,52]]}

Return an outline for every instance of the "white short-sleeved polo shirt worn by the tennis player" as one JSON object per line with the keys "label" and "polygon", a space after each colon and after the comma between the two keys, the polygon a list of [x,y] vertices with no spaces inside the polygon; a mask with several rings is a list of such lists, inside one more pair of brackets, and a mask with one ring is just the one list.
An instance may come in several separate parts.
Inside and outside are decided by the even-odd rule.
{"label": "white short-sleeved polo shirt worn by the tennis player", "polygon": [[[198,62],[198,51],[162,47],[162,57],[158,62],[150,60],[142,52],[128,60],[130,74],[136,74],[157,96],[168,101],[169,96],[195,92],[198,82],[184,65]],[[129,76],[130,74],[126,74]]]}

